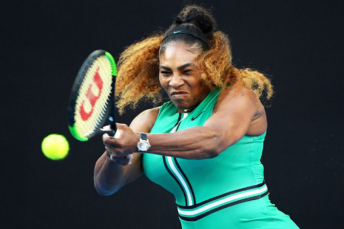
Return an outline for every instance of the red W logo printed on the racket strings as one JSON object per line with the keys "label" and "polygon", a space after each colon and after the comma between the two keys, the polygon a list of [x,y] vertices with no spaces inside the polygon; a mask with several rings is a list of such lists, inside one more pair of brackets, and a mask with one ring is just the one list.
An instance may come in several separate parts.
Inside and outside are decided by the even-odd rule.
{"label": "red W logo printed on the racket strings", "polygon": [[85,108],[84,108],[85,100],[82,102],[79,112],[80,112],[80,115],[81,115],[81,118],[83,121],[87,121],[89,119],[89,117],[91,117],[91,115],[93,113],[94,104],[95,104],[95,102],[97,102],[97,100],[100,98],[100,96],[102,94],[101,92],[102,92],[102,88],[103,88],[103,80],[100,77],[98,70],[99,70],[99,67],[97,68],[97,71],[95,72],[95,74],[93,76],[93,82],[95,83],[95,85],[97,85],[97,87],[99,89],[99,93],[98,93],[98,96],[95,96],[91,90],[92,84],[89,85],[88,90],[86,92],[86,98],[90,102],[92,109],[89,112],[86,112]]}

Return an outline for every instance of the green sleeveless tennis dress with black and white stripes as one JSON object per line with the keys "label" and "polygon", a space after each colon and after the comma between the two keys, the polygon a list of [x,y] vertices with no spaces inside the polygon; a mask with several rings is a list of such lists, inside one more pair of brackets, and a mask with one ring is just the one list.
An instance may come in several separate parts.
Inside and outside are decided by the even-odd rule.
{"label": "green sleeveless tennis dress with black and white stripes", "polygon": [[[220,90],[214,90],[189,113],[172,102],[159,110],[151,133],[202,126],[212,115]],[[143,170],[176,198],[183,229],[298,228],[269,200],[260,162],[265,133],[244,136],[212,159],[188,160],[143,154]]]}

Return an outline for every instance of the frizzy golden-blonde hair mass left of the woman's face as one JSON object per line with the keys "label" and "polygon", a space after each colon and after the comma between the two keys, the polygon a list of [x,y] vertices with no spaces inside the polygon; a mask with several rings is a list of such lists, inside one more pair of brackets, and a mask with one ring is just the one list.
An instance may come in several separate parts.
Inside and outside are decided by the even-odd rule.
{"label": "frizzy golden-blonde hair mass left of the woman's face", "polygon": [[150,36],[130,45],[120,55],[115,91],[120,113],[128,105],[136,108],[141,98],[161,101],[158,53],[162,39],[163,35]]}

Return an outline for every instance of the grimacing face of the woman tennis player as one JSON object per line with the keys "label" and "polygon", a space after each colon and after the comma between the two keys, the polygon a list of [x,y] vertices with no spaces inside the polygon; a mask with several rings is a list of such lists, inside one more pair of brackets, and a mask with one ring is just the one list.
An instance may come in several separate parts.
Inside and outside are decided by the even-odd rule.
{"label": "grimacing face of the woman tennis player", "polygon": [[166,46],[159,56],[160,84],[179,111],[197,106],[210,91],[201,80],[198,56],[184,43]]}

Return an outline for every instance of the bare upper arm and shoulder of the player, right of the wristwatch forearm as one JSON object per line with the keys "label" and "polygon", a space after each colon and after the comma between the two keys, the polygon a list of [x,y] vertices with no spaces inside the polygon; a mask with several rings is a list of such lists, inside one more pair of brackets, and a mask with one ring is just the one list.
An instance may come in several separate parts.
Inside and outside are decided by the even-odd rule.
{"label": "bare upper arm and shoulder of the player, right of the wristwatch forearm", "polygon": [[216,132],[219,150],[223,151],[246,134],[260,106],[259,99],[251,89],[243,87],[238,91],[230,91],[203,126]]}

